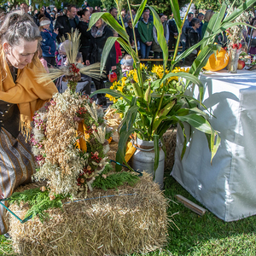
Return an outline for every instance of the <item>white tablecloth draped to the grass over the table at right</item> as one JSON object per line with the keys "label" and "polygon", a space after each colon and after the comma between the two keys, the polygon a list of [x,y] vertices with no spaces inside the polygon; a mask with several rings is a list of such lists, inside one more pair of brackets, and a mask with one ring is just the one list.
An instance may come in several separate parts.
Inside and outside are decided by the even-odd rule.
{"label": "white tablecloth draped to the grass over the table at right", "polygon": [[[224,221],[256,214],[256,73],[226,71],[201,74],[203,104],[215,116],[221,145],[210,164],[206,136],[192,133],[181,160],[183,135],[177,130],[172,176],[196,200]],[[199,99],[195,87],[190,91]]]}

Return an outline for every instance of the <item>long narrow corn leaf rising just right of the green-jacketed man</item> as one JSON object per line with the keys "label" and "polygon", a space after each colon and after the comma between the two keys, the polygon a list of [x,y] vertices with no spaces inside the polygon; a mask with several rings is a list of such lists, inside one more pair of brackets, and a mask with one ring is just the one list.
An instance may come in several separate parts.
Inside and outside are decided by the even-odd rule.
{"label": "long narrow corn leaf rising just right of the green-jacketed man", "polygon": [[168,46],[167,46],[166,38],[165,38],[165,34],[164,34],[164,27],[159,18],[159,15],[156,13],[154,8],[151,6],[148,6],[148,8],[151,10],[151,12],[153,14],[154,26],[157,31],[157,41],[160,44],[160,48],[163,51],[163,59],[164,59],[163,67],[164,67],[164,69],[166,69],[166,64],[167,64],[167,60],[168,60]]}

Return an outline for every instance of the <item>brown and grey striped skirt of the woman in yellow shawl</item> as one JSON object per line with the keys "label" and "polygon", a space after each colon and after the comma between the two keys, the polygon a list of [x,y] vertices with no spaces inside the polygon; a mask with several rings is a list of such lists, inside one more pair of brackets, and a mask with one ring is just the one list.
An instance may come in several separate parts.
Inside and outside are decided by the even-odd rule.
{"label": "brown and grey striped skirt of the woman in yellow shawl", "polygon": [[[21,184],[30,183],[33,172],[35,172],[34,159],[31,147],[25,142],[25,138],[21,133],[15,138],[2,129],[0,132],[0,195],[7,198]],[[2,206],[0,217],[0,234],[3,235],[9,228],[6,210]]]}

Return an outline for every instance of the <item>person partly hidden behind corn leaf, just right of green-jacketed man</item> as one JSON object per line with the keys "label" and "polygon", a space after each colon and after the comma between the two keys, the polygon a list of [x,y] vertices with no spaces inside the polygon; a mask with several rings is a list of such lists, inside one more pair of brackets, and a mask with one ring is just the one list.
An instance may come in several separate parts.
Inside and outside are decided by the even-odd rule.
{"label": "person partly hidden behind corn leaf, just right of green-jacketed man", "polygon": [[[169,41],[169,28],[166,22],[166,15],[160,14],[160,20],[162,22],[162,25],[164,27],[164,36],[166,38],[166,44],[168,44]],[[162,59],[163,58],[163,51],[160,48],[160,44],[157,41],[157,31],[156,27],[153,27],[153,44],[152,44],[152,50],[154,51],[154,59]]]}

